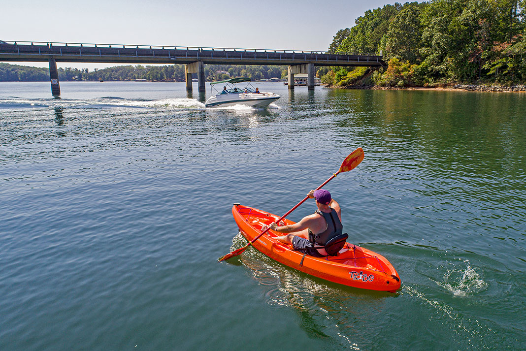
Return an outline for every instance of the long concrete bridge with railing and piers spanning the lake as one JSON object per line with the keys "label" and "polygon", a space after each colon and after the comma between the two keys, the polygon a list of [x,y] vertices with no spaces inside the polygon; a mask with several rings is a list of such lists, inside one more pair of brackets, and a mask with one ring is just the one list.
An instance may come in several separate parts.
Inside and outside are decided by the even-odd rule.
{"label": "long concrete bridge with railing and piers spanning the lake", "polygon": [[47,61],[53,96],[60,96],[57,62],[184,64],[186,88],[189,91],[192,90],[193,73],[197,73],[198,90],[205,91],[205,64],[288,66],[289,89],[294,89],[294,75],[300,73],[308,74],[308,89],[314,89],[315,66],[386,66],[382,55],[376,54],[343,55],[321,51],[50,42],[0,42],[0,61]]}

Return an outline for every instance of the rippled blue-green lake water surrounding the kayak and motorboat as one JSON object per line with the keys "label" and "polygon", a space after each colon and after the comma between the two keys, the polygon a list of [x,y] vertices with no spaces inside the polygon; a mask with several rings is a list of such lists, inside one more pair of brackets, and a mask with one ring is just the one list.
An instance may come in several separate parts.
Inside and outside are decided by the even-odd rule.
{"label": "rippled blue-green lake water surrounding the kayak and motorboat", "polygon": [[[524,349],[525,94],[60,85],[0,83],[0,350]],[[357,147],[326,189],[397,293],[217,262],[232,203],[281,215]]]}

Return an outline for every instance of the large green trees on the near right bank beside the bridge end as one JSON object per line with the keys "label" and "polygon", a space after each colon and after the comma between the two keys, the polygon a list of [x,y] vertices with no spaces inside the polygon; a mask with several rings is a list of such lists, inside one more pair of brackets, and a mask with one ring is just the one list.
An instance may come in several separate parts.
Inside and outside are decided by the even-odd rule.
{"label": "large green trees on the near right bank beside the bridge end", "polygon": [[382,53],[372,71],[322,68],[322,81],[383,86],[453,82],[513,85],[526,80],[526,0],[431,0],[366,11],[340,29],[330,53]]}

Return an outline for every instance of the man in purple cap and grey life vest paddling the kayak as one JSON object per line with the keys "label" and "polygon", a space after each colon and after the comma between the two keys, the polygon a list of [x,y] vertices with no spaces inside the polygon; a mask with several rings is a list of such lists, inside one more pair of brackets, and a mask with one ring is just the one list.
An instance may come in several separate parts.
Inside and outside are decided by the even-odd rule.
{"label": "man in purple cap and grey life vest paddling the kayak", "polygon": [[[318,210],[315,213],[291,225],[278,226],[272,223],[270,229],[278,233],[288,233],[284,236],[277,236],[276,240],[292,244],[294,250],[315,257],[325,257],[327,252],[323,246],[330,239],[340,235],[343,229],[340,205],[325,189],[311,190],[307,196],[316,200]],[[265,229],[266,227],[263,228]]]}

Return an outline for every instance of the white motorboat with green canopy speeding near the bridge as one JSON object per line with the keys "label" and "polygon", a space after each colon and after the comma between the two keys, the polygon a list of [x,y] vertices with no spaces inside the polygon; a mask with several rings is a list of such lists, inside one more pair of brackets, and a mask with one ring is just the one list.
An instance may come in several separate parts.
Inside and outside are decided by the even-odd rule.
{"label": "white motorboat with green canopy speeding near the bridge", "polygon": [[[244,88],[238,88],[236,84],[247,82]],[[223,90],[219,91],[216,86],[220,84]],[[271,102],[280,98],[274,92],[260,92],[250,84],[250,78],[232,78],[221,81],[213,81],[210,88],[217,94],[210,96],[206,102],[206,107],[225,107],[234,105],[246,105],[255,108],[265,108]]]}

